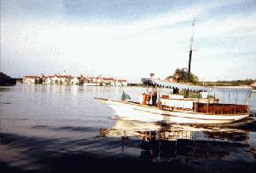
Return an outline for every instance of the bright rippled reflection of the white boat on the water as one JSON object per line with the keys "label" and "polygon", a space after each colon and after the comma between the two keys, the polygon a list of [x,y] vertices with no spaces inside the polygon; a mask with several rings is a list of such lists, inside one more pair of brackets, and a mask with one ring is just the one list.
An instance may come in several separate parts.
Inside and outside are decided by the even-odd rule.
{"label": "bright rippled reflection of the white boat on the water", "polygon": [[101,136],[131,137],[137,136],[143,141],[163,140],[224,140],[247,141],[248,132],[236,129],[220,129],[211,126],[190,126],[181,124],[143,123],[119,119],[110,129],[100,130]]}

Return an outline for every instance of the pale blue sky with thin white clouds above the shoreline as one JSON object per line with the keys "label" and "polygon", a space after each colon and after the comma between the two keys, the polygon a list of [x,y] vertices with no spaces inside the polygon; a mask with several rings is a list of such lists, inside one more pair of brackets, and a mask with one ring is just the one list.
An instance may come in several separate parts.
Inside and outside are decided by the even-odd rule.
{"label": "pale blue sky with thin white clouds above the shoreline", "polygon": [[1,0],[1,72],[256,78],[256,1]]}

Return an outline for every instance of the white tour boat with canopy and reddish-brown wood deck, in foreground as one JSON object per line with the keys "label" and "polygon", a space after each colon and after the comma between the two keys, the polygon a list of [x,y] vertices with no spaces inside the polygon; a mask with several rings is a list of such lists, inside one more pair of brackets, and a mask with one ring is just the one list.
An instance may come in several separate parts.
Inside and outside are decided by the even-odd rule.
{"label": "white tour boat with canopy and reddish-brown wood deck, in foreground", "polygon": [[[149,104],[150,95],[143,95],[143,101],[117,101],[96,98],[108,104],[119,117],[143,122],[164,122],[178,124],[227,124],[249,116],[248,98],[251,88],[208,88],[190,84],[171,83],[160,79],[143,78],[144,84],[170,89],[183,89],[200,93],[215,92],[236,95],[236,101],[219,102],[215,97],[183,98],[183,95],[161,95],[157,106]],[[160,90],[160,89],[159,89]],[[244,104],[236,103],[237,95],[245,97]],[[148,99],[149,98],[149,99]],[[224,100],[224,99],[223,99]]]}

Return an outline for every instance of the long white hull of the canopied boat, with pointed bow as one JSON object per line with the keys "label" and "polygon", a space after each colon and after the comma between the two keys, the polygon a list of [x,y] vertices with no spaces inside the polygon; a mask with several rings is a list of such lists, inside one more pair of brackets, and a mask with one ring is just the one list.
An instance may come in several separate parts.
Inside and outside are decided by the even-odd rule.
{"label": "long white hull of the canopied boat, with pointed bow", "polygon": [[205,114],[195,112],[175,112],[148,107],[127,101],[104,101],[118,116],[127,120],[143,122],[165,122],[179,124],[227,124],[249,116],[246,114]]}

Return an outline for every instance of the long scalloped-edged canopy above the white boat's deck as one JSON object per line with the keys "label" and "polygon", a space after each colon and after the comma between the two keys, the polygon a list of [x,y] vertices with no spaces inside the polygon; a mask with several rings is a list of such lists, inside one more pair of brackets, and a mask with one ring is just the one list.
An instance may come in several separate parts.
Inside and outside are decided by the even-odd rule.
{"label": "long scalloped-edged canopy above the white boat's deck", "polygon": [[165,80],[154,79],[154,78],[142,78],[143,84],[151,84],[157,85],[160,87],[166,87],[171,89],[186,89],[190,91],[207,91],[207,92],[215,92],[215,91],[223,91],[223,92],[242,92],[244,94],[249,94],[252,92],[252,89],[249,87],[203,87],[191,84],[180,84],[180,83],[172,83]]}

